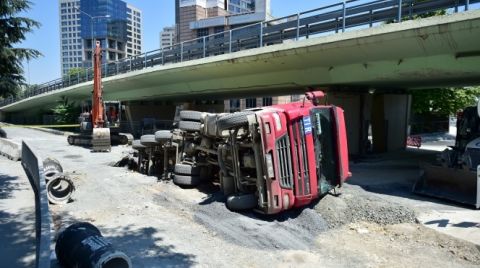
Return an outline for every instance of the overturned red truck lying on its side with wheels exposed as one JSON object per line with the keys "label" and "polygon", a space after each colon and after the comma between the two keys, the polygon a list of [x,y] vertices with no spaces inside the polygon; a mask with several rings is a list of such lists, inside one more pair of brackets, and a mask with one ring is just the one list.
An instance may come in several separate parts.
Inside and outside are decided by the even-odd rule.
{"label": "overturned red truck lying on its side with wheels exposed", "polygon": [[174,182],[213,178],[229,209],[264,214],[305,206],[341,187],[351,176],[345,120],[341,108],[320,105],[323,97],[307,92],[304,101],[232,114],[182,111],[179,130],[161,143],[179,148],[170,150],[177,152]]}

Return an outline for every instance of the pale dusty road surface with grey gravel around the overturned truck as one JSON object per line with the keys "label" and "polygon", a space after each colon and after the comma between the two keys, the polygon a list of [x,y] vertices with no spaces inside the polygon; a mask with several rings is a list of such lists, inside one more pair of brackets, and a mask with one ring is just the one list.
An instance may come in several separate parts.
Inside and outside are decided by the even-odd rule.
{"label": "pale dusty road surface with grey gravel around the overturned truck", "polygon": [[[478,245],[415,223],[418,213],[458,208],[406,194],[408,186],[392,177],[413,180],[418,167],[409,163],[389,162],[383,173],[378,163],[353,164],[354,176],[339,197],[327,195],[302,210],[262,216],[229,211],[215,184],[182,189],[111,167],[131,150],[128,146],[91,153],[69,146],[62,136],[5,130],[41,158],[58,159],[72,174],[73,202],[50,206],[54,234],[76,221],[91,222],[133,267],[480,265]],[[381,184],[378,174],[392,176]]]}

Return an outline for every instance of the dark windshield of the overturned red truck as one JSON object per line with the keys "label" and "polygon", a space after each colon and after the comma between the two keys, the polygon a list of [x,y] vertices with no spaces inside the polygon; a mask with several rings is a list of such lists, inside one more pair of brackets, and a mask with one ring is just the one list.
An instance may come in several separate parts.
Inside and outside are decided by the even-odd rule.
{"label": "dark windshield of the overturned red truck", "polygon": [[[335,117],[331,107],[317,107],[310,112],[312,134],[315,144],[315,160],[317,162],[317,178],[319,187],[340,183],[337,171],[337,144],[335,139]],[[329,189],[321,189],[324,192]]]}

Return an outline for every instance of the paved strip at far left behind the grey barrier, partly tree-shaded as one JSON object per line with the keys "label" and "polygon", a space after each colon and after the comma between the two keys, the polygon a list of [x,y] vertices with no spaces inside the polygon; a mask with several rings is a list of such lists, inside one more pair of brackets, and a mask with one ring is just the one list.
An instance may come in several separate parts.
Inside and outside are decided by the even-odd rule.
{"label": "paved strip at far left behind the grey barrier, partly tree-shaded", "polygon": [[35,199],[20,162],[0,157],[0,259],[2,267],[35,264]]}

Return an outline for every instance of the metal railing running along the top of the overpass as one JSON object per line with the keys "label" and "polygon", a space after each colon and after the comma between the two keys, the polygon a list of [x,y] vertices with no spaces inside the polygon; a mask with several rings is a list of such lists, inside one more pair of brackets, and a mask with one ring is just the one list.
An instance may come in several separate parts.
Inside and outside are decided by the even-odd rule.
{"label": "metal railing running along the top of the overpass", "polygon": [[[452,9],[453,12],[469,10],[480,0],[349,0],[291,16],[259,22],[225,32],[203,36],[102,65],[103,77],[115,76],[148,67],[166,65],[237,51],[281,44],[287,40],[298,41],[314,36],[345,32],[348,29],[374,27],[385,22],[401,22],[430,12]],[[0,107],[46,92],[91,81],[93,70],[65,76],[21,97],[0,101]]]}

